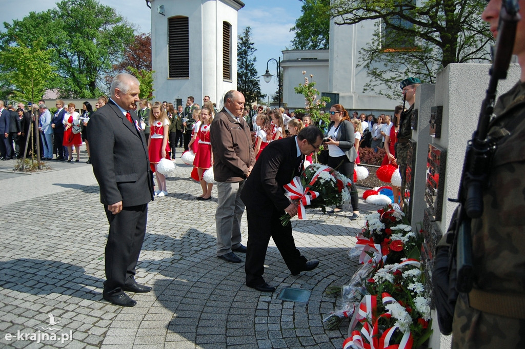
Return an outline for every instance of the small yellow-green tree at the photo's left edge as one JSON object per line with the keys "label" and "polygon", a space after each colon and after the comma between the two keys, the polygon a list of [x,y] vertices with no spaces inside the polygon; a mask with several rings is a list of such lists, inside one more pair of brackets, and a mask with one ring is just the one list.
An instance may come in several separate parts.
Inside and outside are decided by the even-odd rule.
{"label": "small yellow-green tree at the photo's left edge", "polygon": [[[0,66],[3,67],[5,81],[14,87],[17,100],[35,101],[40,99],[53,80],[55,73],[51,67],[52,50],[38,48],[42,40],[28,48],[20,43],[18,46],[6,47],[0,51]],[[39,45],[40,44],[40,45]]]}

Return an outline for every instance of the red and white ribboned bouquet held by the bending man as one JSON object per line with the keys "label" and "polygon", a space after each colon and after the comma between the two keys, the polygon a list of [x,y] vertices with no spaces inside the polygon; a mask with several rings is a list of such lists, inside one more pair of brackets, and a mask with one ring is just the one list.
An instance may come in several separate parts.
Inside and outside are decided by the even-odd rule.
{"label": "red and white ribboned bouquet held by the bending man", "polygon": [[[313,163],[306,167],[300,176],[296,176],[285,185],[286,196],[296,201],[298,218],[306,217],[305,206],[321,208],[326,212],[327,206],[342,205],[350,202],[350,179],[335,171],[332,167]],[[288,214],[282,215],[281,224],[290,221]]]}

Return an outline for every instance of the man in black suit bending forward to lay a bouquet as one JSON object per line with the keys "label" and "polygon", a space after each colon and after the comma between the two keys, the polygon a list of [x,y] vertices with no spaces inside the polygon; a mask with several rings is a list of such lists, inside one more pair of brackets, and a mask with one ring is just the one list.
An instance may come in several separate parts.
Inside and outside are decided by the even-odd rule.
{"label": "man in black suit bending forward to lay a bouquet", "polygon": [[290,202],[283,185],[302,171],[304,155],[319,149],[323,134],[317,127],[302,129],[297,137],[288,137],[268,144],[259,155],[246,179],[241,199],[246,205],[248,244],[246,252],[246,285],[261,292],[274,292],[262,278],[270,236],[274,240],[292,275],[309,271],[319,261],[307,261],[296,248],[292,226],[281,225],[280,217],[297,214],[297,203]]}

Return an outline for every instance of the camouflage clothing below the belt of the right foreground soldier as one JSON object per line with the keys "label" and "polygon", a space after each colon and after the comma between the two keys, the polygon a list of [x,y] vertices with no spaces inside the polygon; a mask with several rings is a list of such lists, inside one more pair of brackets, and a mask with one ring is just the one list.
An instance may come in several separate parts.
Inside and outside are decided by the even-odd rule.
{"label": "camouflage clothing below the belt of the right foreground soldier", "polygon": [[461,294],[454,311],[451,349],[525,348],[525,319],[470,308]]}

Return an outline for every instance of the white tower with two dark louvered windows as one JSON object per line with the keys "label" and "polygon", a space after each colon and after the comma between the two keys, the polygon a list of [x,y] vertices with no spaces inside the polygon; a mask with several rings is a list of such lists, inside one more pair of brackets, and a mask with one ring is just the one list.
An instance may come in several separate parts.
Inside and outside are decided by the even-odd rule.
{"label": "white tower with two dark louvered windows", "polygon": [[151,0],[155,99],[184,105],[188,96],[217,107],[237,88],[238,0]]}

